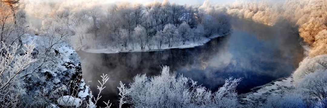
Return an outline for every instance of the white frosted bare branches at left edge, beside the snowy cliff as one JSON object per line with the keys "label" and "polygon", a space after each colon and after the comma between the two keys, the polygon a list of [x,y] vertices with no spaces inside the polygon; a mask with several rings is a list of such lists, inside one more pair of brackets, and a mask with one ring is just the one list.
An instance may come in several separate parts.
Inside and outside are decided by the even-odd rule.
{"label": "white frosted bare branches at left edge, beside the snowy cliff", "polygon": [[[24,48],[20,45],[6,46],[2,43],[0,55],[0,106],[18,107],[19,101],[26,95],[24,83],[27,75],[33,71],[23,71],[28,68],[36,59],[32,58],[34,44],[25,44]],[[19,51],[22,50],[21,53]]]}

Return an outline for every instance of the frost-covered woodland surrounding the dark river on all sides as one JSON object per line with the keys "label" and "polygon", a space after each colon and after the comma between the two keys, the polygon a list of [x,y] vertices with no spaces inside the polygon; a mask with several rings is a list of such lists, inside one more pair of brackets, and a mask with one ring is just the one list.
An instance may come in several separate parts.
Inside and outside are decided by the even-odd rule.
{"label": "frost-covered woodland surrounding the dark river on all sides", "polygon": [[[1,107],[327,107],[324,0],[223,5],[209,0],[203,5],[179,5],[168,0],[147,4],[73,0],[62,4],[0,0]],[[160,75],[139,74],[130,84],[121,82],[117,87],[119,105],[115,106],[111,103],[114,100],[100,101],[109,83],[107,74],[99,76],[98,94],[92,94],[85,84],[77,51],[107,49],[118,53],[199,45],[232,33],[232,17],[268,26],[286,21],[298,29],[306,57],[292,74],[292,89],[272,94],[259,104],[244,105],[236,91],[242,78],[229,77],[219,90],[211,91],[162,66]],[[40,26],[35,23],[38,19]]]}

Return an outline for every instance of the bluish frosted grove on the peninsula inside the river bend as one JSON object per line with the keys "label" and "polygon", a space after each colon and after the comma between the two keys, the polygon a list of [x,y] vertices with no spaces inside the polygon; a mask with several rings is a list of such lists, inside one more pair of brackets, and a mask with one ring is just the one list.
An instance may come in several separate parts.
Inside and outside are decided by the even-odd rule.
{"label": "bluish frosted grove on the peninsula inside the river bend", "polygon": [[[179,48],[228,34],[229,18],[201,6],[170,4],[168,0],[146,5],[121,2],[55,14],[71,19],[73,44],[82,49],[139,51]],[[70,25],[70,24],[69,24]]]}

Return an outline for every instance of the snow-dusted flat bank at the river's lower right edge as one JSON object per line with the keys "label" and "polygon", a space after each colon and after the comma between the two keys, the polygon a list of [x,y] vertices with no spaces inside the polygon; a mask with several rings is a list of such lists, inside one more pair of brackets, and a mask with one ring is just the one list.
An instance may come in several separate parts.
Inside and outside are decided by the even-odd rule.
{"label": "snow-dusted flat bank at the river's lower right edge", "polygon": [[261,106],[267,97],[290,91],[293,88],[292,82],[292,77],[284,77],[266,85],[254,87],[251,92],[239,95],[239,102],[243,107],[247,107],[247,105]]}

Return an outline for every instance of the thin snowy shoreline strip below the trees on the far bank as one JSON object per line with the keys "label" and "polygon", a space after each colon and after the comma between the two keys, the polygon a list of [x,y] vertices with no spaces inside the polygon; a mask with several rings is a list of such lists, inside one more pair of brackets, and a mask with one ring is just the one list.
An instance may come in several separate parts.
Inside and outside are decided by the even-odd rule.
{"label": "thin snowy shoreline strip below the trees on the far bank", "polygon": [[201,37],[200,41],[197,41],[197,42],[187,41],[185,43],[185,45],[173,46],[171,48],[168,48],[168,46],[163,46],[161,49],[157,49],[155,47],[154,49],[151,49],[151,50],[148,50],[148,49],[141,50],[140,47],[137,47],[134,50],[125,50],[125,49],[119,49],[119,48],[104,48],[104,49],[93,49],[93,48],[89,48],[89,49],[81,49],[81,50],[82,51],[85,51],[85,52],[88,52],[88,53],[107,53],[107,54],[111,54],[111,53],[123,53],[123,52],[161,51],[161,50],[176,49],[176,48],[178,48],[178,49],[182,49],[182,48],[193,48],[193,47],[196,47],[196,46],[204,45],[205,43],[207,43],[211,39],[215,39],[217,37],[226,36],[226,35],[228,35],[228,34],[214,35],[214,36],[211,36],[209,38]]}

